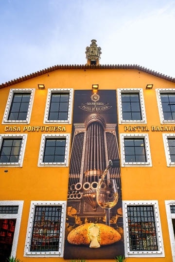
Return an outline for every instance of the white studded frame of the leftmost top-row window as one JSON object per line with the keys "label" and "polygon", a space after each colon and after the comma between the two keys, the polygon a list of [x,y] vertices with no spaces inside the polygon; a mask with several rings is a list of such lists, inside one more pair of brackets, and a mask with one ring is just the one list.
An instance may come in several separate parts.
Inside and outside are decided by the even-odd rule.
{"label": "white studded frame of the leftmost top-row window", "polygon": [[[12,104],[13,95],[16,93],[31,93],[29,108],[27,112],[26,120],[8,120],[8,115],[10,112],[10,107]],[[32,113],[32,106],[34,103],[34,95],[35,95],[35,88],[26,88],[26,89],[10,89],[10,93],[7,99],[7,104],[5,107],[5,112],[2,119],[2,125],[6,124],[30,124],[31,113]]]}

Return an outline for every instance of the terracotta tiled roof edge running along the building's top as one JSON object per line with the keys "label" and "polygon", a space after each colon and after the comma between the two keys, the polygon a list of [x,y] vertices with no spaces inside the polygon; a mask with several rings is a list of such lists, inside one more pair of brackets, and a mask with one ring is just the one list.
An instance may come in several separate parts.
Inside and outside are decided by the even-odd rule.
{"label": "terracotta tiled roof edge running along the building's top", "polygon": [[24,77],[22,76],[17,79],[11,80],[9,82],[2,83],[0,84],[0,89],[23,82],[23,81],[27,81],[31,78],[35,78],[37,76],[41,76],[41,75],[47,74],[55,70],[64,70],[64,69],[137,69],[147,74],[150,74],[150,75],[153,75],[153,76],[156,76],[156,77],[159,77],[159,78],[175,83],[175,78],[173,77],[170,77],[167,75],[165,76],[163,74],[157,73],[157,71],[155,72],[154,70],[147,69],[144,66],[142,67],[138,65],[57,65],[57,66],[52,66],[52,67],[50,66],[47,69],[45,68],[43,70],[32,73],[30,75],[27,75]]}

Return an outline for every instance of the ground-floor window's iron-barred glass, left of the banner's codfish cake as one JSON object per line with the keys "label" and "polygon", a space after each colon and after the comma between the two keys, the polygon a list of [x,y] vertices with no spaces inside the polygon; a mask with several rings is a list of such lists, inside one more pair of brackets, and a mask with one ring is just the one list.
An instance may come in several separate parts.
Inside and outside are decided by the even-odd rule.
{"label": "ground-floor window's iron-barred glass, left of the banner's codfish cake", "polygon": [[30,251],[58,251],[62,206],[36,206]]}

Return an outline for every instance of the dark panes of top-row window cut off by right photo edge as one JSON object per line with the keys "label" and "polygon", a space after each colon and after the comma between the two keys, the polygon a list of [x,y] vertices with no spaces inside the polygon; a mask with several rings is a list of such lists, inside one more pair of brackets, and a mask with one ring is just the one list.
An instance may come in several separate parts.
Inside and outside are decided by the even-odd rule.
{"label": "dark panes of top-row window cut off by right photo edge", "polygon": [[165,120],[175,120],[175,93],[160,93]]}

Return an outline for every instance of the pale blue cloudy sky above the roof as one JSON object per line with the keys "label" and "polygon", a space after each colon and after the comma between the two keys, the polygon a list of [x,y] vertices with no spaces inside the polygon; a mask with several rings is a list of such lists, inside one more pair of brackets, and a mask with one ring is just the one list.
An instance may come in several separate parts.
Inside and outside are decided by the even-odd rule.
{"label": "pale blue cloudy sky above the roof", "polygon": [[0,0],[0,83],[54,65],[137,64],[175,77],[175,0]]}

